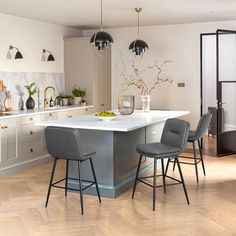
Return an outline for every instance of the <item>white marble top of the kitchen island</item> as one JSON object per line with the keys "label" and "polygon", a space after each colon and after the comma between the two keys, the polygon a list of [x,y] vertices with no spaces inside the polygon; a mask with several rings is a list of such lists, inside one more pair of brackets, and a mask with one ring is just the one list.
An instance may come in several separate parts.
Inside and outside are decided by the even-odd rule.
{"label": "white marble top of the kitchen island", "polygon": [[[118,112],[115,111],[117,114]],[[104,130],[104,131],[131,131],[147,125],[165,121],[189,114],[188,111],[161,111],[152,110],[148,113],[135,111],[132,115],[117,115],[113,120],[104,121],[94,115],[82,115],[78,118],[37,122],[40,126],[57,126],[77,129]]]}

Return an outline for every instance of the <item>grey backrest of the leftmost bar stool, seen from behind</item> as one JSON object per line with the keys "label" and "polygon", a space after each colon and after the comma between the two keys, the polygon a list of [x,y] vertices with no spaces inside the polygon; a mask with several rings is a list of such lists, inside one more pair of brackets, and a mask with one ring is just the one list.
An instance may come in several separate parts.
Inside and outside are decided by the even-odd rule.
{"label": "grey backrest of the leftmost bar stool, seen from behind", "polygon": [[61,159],[82,160],[79,133],[76,129],[47,127],[45,129],[48,153]]}

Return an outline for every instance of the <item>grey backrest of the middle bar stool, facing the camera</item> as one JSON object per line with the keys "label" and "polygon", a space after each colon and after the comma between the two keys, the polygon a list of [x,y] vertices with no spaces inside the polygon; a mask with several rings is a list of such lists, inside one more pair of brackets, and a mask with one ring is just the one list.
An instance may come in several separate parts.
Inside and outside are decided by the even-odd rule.
{"label": "grey backrest of the middle bar stool, facing the camera", "polygon": [[184,150],[188,139],[189,127],[190,124],[187,121],[168,119],[162,132],[161,143]]}

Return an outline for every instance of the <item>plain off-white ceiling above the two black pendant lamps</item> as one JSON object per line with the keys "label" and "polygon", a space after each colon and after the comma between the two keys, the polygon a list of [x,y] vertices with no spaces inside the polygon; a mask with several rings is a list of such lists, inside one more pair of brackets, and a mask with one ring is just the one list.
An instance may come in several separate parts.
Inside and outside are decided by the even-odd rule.
{"label": "plain off-white ceiling above the two black pendant lamps", "polygon": [[[103,0],[105,28],[236,20],[235,0]],[[100,0],[0,0],[0,12],[48,23],[95,29]]]}

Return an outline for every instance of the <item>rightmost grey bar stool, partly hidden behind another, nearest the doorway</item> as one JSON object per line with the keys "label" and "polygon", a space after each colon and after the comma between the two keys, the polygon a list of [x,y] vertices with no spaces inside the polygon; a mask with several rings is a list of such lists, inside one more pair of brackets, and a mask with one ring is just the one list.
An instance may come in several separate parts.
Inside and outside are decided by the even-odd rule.
{"label": "rightmost grey bar stool, partly hidden behind another, nearest the doorway", "polygon": [[[192,130],[189,131],[188,142],[191,142],[192,145],[193,145],[193,157],[180,156],[180,158],[193,159],[193,163],[191,163],[191,162],[184,162],[184,161],[181,161],[181,160],[180,160],[180,163],[181,164],[187,164],[187,165],[194,165],[195,166],[197,183],[199,182],[199,178],[198,178],[198,164],[200,162],[202,163],[203,174],[206,175],[205,165],[204,165],[204,160],[203,160],[203,156],[202,156],[202,149],[201,149],[200,141],[201,141],[201,138],[203,137],[203,135],[207,132],[208,126],[209,126],[210,121],[211,121],[211,118],[212,118],[212,114],[210,114],[210,113],[204,114],[200,118],[200,120],[199,120],[197,129],[195,131],[192,131]],[[195,142],[198,143],[200,157],[197,157]],[[175,161],[173,161],[173,162],[174,162],[174,166],[173,166],[173,170],[174,170],[176,163],[175,163]]]}

